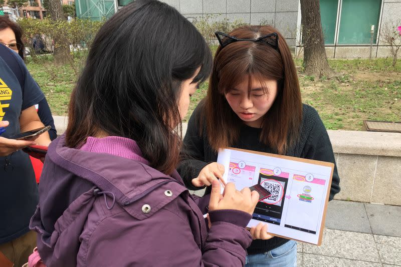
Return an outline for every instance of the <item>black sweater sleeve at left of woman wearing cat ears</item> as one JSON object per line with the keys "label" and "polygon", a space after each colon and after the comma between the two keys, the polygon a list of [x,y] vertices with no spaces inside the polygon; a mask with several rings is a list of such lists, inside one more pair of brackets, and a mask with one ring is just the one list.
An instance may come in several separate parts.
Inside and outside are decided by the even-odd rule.
{"label": "black sweater sleeve at left of woman wearing cat ears", "polygon": [[205,142],[204,136],[200,134],[200,107],[193,111],[189,118],[188,128],[181,148],[181,162],[178,164],[177,171],[182,177],[185,186],[189,190],[199,190],[204,187],[192,185],[192,179],[199,175],[208,162],[205,162]]}

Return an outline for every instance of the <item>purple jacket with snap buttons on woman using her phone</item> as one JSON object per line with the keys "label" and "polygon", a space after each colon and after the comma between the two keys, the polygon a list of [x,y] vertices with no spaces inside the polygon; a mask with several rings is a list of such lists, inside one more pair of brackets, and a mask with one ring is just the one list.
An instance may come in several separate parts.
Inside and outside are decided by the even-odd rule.
{"label": "purple jacket with snap buttons on woman using her phone", "polygon": [[30,224],[48,267],[244,265],[250,214],[210,212],[208,232],[209,198],[145,164],[135,142],[134,157],[121,157],[68,148],[64,139],[49,147]]}

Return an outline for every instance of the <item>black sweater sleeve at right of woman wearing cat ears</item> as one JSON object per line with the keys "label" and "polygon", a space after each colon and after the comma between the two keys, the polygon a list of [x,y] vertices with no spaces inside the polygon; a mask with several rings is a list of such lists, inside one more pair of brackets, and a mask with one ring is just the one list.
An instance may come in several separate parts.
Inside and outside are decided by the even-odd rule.
{"label": "black sweater sleeve at right of woman wearing cat ears", "polygon": [[333,148],[327,130],[317,114],[317,111],[313,110],[313,112],[315,113],[315,120],[301,157],[334,163],[329,196],[330,201],[334,198],[334,195],[340,191],[340,177],[338,176],[337,164],[335,162]]}

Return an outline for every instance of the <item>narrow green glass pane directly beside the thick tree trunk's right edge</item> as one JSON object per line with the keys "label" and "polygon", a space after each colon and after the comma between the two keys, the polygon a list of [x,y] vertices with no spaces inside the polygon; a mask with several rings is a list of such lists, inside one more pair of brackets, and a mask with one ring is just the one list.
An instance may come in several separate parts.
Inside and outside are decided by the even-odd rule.
{"label": "narrow green glass pane directly beside the thick tree trunk's right edge", "polygon": [[334,44],[335,25],[337,20],[338,0],[320,0],[320,17],[324,44]]}

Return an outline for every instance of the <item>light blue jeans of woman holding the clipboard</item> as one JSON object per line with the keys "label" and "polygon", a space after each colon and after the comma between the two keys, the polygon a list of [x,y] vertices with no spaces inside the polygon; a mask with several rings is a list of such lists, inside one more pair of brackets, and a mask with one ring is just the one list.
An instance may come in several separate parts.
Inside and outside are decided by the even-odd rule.
{"label": "light blue jeans of woman holding the clipboard", "polygon": [[297,266],[297,242],[290,240],[279,247],[260,254],[248,255],[245,267],[293,267]]}

